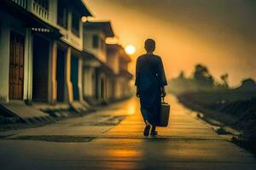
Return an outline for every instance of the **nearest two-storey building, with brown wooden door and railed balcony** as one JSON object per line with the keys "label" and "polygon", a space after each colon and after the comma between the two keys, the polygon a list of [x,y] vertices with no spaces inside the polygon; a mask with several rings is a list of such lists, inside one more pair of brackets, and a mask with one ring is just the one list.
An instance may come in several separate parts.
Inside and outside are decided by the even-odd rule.
{"label": "nearest two-storey building, with brown wooden door and railed balcony", "polygon": [[81,0],[0,2],[0,102],[83,103]]}

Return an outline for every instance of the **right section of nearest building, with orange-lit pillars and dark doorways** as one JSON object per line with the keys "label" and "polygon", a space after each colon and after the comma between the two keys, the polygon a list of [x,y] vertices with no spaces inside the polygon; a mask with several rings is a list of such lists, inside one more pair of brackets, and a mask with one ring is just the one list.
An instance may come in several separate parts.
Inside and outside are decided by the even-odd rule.
{"label": "right section of nearest building, with orange-lit pillars and dark doorways", "polygon": [[[91,16],[81,0],[59,0],[57,26],[61,40],[57,42],[55,59],[55,96],[53,103],[69,103],[74,109],[79,104],[83,109],[83,23],[82,16]],[[73,105],[75,104],[75,105]]]}

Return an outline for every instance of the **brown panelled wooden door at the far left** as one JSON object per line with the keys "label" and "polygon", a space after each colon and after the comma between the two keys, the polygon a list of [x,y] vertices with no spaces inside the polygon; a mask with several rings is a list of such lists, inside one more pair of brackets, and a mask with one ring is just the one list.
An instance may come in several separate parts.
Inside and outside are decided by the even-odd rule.
{"label": "brown panelled wooden door at the far left", "polygon": [[9,99],[23,99],[25,37],[10,33]]}

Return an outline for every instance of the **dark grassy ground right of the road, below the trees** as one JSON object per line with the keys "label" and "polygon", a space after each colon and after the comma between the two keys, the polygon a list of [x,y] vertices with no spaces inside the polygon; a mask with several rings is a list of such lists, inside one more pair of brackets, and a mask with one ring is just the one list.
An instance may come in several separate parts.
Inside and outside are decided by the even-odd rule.
{"label": "dark grassy ground right of the road, below the trees", "polygon": [[[236,144],[247,145],[248,150],[256,150],[256,92],[222,90],[194,92],[177,95],[183,105],[204,115],[204,119],[214,119],[223,126],[242,131]],[[255,152],[254,152],[255,153]]]}

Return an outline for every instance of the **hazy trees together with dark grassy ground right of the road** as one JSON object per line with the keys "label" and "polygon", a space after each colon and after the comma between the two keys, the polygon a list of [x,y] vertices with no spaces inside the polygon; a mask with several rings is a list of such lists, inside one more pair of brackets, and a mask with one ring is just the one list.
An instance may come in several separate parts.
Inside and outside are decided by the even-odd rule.
{"label": "hazy trees together with dark grassy ground right of the road", "polygon": [[169,84],[169,92],[176,94],[183,105],[241,130],[256,150],[256,83],[252,78],[242,80],[238,88],[230,88],[227,73],[217,82],[207,66],[195,65],[191,77],[184,77],[182,71]]}

